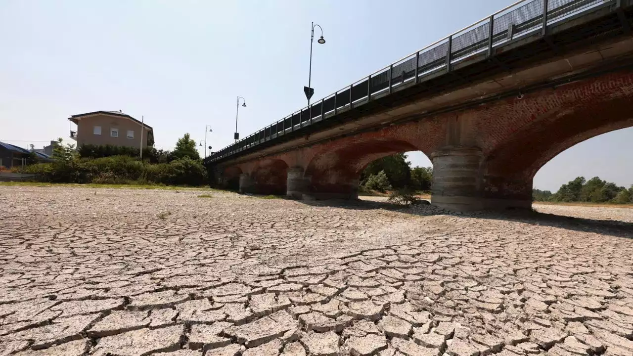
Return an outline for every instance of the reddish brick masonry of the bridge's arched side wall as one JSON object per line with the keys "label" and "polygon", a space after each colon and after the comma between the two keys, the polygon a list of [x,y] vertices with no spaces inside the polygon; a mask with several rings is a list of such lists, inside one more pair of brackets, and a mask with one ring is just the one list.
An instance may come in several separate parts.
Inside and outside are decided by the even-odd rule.
{"label": "reddish brick masonry of the bridge's arched side wall", "polygon": [[534,175],[551,158],[581,141],[630,126],[633,73],[615,72],[223,166],[220,172],[223,182],[247,173],[261,193],[283,193],[287,168],[301,168],[310,178],[308,193],[353,198],[363,168],[382,156],[422,151],[431,157],[447,148],[479,149],[473,194],[528,201]]}

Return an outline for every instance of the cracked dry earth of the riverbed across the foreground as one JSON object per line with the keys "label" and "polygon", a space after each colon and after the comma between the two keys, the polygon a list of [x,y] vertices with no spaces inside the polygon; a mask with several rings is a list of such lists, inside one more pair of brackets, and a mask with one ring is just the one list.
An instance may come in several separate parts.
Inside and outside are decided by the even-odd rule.
{"label": "cracked dry earth of the riverbed across the foreground", "polygon": [[0,187],[0,355],[633,355],[629,223],[201,193]]}

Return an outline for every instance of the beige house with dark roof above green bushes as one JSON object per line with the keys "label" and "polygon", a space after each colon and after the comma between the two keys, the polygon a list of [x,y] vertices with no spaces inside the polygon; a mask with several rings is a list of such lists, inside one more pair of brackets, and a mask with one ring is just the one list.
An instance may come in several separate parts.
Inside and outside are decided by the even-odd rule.
{"label": "beige house with dark roof above green bushes", "polygon": [[94,111],[72,115],[68,120],[77,124],[77,131],[70,131],[77,147],[84,144],[140,147],[141,136],[143,148],[154,143],[151,126],[121,111]]}

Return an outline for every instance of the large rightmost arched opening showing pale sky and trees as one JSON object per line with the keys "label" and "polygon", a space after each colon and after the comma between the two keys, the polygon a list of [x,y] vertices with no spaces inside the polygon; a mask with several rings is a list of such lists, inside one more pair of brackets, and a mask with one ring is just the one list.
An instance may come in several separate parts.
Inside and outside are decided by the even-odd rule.
{"label": "large rightmost arched opening showing pale sky and trees", "polygon": [[633,204],[633,127],[577,143],[537,171],[538,202]]}

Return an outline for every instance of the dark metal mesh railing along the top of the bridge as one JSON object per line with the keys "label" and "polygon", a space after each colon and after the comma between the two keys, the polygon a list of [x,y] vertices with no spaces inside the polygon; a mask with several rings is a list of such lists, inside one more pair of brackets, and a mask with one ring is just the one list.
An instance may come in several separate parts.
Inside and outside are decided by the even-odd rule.
{"label": "dark metal mesh railing along the top of the bridge", "polygon": [[337,113],[389,95],[410,84],[417,84],[429,73],[439,70],[450,72],[455,63],[474,54],[487,52],[487,55],[491,55],[496,46],[505,42],[537,31],[544,34],[548,25],[616,2],[619,3],[619,0],[518,1],[220,149],[207,156],[205,161],[220,160],[315,122],[327,120]]}

